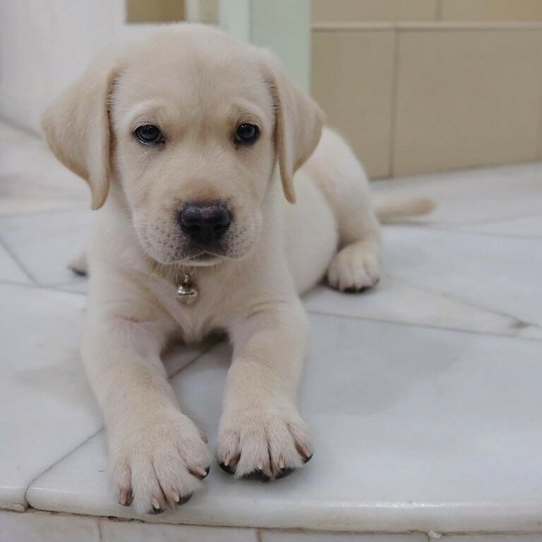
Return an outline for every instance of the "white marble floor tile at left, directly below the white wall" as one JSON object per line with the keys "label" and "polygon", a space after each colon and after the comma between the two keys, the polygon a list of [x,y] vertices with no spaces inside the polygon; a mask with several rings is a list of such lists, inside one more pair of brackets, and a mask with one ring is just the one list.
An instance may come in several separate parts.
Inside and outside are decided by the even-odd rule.
{"label": "white marble floor tile at left, directly below the white wall", "polygon": [[0,123],[0,215],[89,206],[85,181],[62,166],[37,134]]}

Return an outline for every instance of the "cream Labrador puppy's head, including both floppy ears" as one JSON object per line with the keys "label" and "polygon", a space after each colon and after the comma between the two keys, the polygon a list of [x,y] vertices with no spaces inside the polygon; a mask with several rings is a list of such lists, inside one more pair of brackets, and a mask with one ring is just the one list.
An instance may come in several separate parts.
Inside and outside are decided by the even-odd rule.
{"label": "cream Labrador puppy's head, including both floppy ears", "polygon": [[42,126],[56,157],[89,183],[93,209],[119,183],[151,258],[210,265],[250,251],[275,177],[294,202],[292,177],[322,114],[270,54],[177,25],[102,55]]}

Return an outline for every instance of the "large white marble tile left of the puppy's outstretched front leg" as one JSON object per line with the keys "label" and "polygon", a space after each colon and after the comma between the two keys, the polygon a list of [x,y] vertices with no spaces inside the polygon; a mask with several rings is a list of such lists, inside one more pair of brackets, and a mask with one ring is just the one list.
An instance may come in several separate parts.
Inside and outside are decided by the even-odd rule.
{"label": "large white marble tile left of the puppy's outstretched front leg", "polygon": [[79,361],[84,299],[10,284],[0,298],[0,507],[18,509],[102,422]]}

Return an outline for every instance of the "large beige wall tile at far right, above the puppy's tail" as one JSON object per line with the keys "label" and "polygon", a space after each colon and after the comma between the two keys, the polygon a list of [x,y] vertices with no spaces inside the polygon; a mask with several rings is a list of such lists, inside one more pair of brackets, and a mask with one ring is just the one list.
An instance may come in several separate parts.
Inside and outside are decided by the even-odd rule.
{"label": "large beige wall tile at far right, above the puppy's tail", "polygon": [[542,32],[399,32],[393,173],[538,157]]}

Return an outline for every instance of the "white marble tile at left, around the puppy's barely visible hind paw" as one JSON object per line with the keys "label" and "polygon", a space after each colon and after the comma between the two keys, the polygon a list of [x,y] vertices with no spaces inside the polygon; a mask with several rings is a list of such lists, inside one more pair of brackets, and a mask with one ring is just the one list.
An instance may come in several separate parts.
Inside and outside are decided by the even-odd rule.
{"label": "white marble tile at left, around the puppy's barely visible hind paw", "polygon": [[92,218],[89,210],[0,217],[0,236],[37,284],[83,282],[67,264],[84,250]]}

